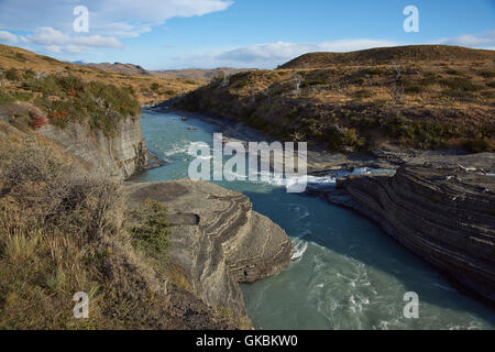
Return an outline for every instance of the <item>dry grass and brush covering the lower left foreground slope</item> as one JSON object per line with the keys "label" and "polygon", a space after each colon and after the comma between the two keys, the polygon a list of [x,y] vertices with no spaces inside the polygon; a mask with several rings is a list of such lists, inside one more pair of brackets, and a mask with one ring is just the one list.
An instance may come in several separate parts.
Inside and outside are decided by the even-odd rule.
{"label": "dry grass and brush covering the lower left foreground slope", "polygon": [[[73,174],[58,151],[23,142],[0,143],[0,329],[233,327],[168,284],[160,257],[136,251],[119,184]],[[73,316],[78,292],[89,295],[89,319]]]}

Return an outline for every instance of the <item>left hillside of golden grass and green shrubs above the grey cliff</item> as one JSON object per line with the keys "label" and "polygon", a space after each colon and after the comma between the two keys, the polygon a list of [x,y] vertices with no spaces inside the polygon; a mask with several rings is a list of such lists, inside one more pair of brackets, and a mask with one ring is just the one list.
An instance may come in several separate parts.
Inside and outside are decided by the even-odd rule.
{"label": "left hillside of golden grass and green shrubs above the grey cliff", "polygon": [[87,121],[107,135],[139,117],[140,105],[197,88],[196,80],[161,79],[58,62],[0,45],[0,117],[21,129]]}

